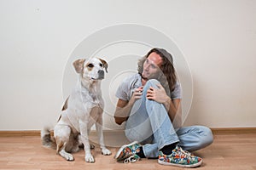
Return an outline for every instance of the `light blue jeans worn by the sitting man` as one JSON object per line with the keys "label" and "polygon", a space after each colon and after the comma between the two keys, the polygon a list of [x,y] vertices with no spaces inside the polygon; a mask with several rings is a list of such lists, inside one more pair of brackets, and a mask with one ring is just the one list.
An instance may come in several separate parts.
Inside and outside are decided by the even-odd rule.
{"label": "light blue jeans worn by the sitting man", "polygon": [[208,127],[192,126],[174,129],[164,105],[146,98],[149,87],[157,88],[157,80],[149,80],[143,96],[131,108],[125,125],[125,136],[143,144],[146,157],[157,157],[158,150],[167,144],[178,143],[184,150],[199,150],[212,144],[212,131]]}

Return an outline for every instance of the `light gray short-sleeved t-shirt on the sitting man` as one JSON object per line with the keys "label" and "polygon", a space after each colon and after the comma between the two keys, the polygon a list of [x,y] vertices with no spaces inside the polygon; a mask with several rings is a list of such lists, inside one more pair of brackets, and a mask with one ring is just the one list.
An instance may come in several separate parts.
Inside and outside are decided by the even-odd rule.
{"label": "light gray short-sleeved t-shirt on the sitting man", "polygon": [[[118,99],[129,101],[134,90],[141,86],[143,86],[142,77],[137,73],[135,75],[132,75],[131,77],[125,78],[125,80],[121,82],[115,96]],[[172,91],[171,96],[169,97],[171,99],[182,99],[182,89],[178,82],[176,82],[175,88]]]}

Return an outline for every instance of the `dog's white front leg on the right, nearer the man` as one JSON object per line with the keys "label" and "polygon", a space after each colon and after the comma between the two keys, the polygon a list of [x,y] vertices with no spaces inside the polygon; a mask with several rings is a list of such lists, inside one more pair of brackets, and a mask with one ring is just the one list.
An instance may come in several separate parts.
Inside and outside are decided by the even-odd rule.
{"label": "dog's white front leg on the right, nearer the man", "polygon": [[96,122],[96,131],[97,131],[97,135],[98,135],[98,138],[99,138],[99,144],[101,145],[102,155],[110,156],[111,151],[108,150],[105,147],[105,144],[104,144],[103,130],[102,130],[102,116],[98,117],[98,120]]}

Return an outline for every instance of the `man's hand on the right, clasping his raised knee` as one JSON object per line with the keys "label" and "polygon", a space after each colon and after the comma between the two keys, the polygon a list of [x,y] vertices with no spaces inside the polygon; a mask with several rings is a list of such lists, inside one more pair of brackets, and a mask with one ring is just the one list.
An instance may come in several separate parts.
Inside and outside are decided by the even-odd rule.
{"label": "man's hand on the right, clasping his raised knee", "polygon": [[162,85],[157,84],[158,88],[148,88],[147,91],[147,99],[153,99],[154,101],[163,104],[166,101],[168,101],[170,98],[166,94],[165,88],[162,87]]}

